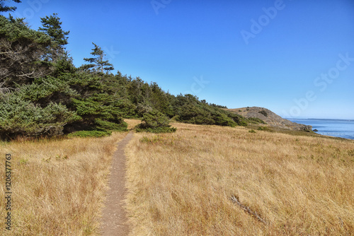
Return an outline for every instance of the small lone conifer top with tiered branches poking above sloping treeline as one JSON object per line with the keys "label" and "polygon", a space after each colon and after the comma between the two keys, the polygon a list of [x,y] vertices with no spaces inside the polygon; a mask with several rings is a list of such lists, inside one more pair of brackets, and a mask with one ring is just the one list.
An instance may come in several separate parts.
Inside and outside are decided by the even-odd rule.
{"label": "small lone conifer top with tiered branches poking above sloping treeline", "polygon": [[108,60],[104,60],[105,53],[103,52],[101,47],[98,47],[98,45],[96,45],[95,43],[92,44],[95,46],[95,48],[92,49],[91,55],[95,57],[84,58],[84,61],[87,61],[90,64],[82,65],[81,69],[83,69],[84,71],[101,73],[103,73],[103,71],[113,71],[113,64],[110,64]]}

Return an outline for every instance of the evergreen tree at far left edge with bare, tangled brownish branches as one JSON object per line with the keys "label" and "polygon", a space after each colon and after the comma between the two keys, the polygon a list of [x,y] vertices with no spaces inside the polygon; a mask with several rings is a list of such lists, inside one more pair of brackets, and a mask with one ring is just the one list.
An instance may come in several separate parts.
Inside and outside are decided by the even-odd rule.
{"label": "evergreen tree at far left edge with bare, tangled brownish branches", "polygon": [[50,37],[28,28],[23,19],[0,16],[0,83],[21,85],[47,75],[50,67],[40,59],[50,45]]}

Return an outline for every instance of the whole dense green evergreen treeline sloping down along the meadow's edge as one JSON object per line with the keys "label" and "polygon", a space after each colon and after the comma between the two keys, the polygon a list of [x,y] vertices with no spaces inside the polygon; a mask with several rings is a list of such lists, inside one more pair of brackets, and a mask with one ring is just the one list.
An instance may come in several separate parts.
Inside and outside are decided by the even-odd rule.
{"label": "whole dense green evergreen treeline sloping down along the meadow's edge", "polygon": [[[4,11],[4,4],[1,4]],[[0,16],[0,136],[110,134],[125,117],[142,117],[139,130],[174,131],[169,119],[192,124],[246,126],[249,122],[193,95],[171,95],[156,83],[113,74],[93,43],[88,64],[76,68],[65,46],[69,31],[57,14],[33,30],[24,19]]]}

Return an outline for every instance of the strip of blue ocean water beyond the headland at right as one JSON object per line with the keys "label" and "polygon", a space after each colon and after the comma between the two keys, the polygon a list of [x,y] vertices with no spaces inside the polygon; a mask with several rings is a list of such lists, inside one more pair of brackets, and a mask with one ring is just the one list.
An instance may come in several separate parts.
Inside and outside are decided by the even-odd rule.
{"label": "strip of blue ocean water beyond the headland at right", "polygon": [[312,125],[317,134],[354,139],[354,120],[352,119],[289,119],[291,122]]}

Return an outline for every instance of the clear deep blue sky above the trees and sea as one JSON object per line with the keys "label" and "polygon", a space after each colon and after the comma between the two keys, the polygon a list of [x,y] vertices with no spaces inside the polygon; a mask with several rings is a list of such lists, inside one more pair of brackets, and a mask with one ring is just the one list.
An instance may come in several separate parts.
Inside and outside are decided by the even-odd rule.
{"label": "clear deep blue sky above the trees and sea", "polygon": [[[354,1],[24,0],[34,29],[58,13],[80,66],[92,45],[123,74],[171,94],[354,119]],[[17,15],[16,15],[17,14]]]}

